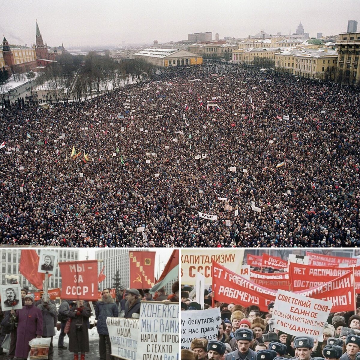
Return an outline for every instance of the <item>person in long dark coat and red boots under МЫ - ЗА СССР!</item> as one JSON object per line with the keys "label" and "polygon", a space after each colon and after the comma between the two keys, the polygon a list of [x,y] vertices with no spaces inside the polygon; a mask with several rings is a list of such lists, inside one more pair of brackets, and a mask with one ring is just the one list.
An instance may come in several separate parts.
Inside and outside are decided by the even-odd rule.
{"label": "person in long dark coat and red boots under \u041c\u042b - \u0417\u0410 \u0421\u0421\u0421\u0420!", "polygon": [[73,307],[70,311],[71,325],[69,331],[69,351],[74,353],[74,360],[85,360],[85,352],[89,352],[89,318],[91,310],[84,306],[84,301],[79,301],[79,307]]}

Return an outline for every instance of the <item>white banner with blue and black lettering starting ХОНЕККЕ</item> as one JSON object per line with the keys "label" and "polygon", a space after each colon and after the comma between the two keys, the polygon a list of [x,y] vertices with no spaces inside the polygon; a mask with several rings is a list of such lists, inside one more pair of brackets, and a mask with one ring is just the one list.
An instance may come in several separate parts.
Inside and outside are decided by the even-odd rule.
{"label": "white banner with blue and black lettering starting \u0425\u041e\u041d\u0415\u041a\u041a\u0415", "polygon": [[179,359],[179,303],[141,301],[138,359]]}

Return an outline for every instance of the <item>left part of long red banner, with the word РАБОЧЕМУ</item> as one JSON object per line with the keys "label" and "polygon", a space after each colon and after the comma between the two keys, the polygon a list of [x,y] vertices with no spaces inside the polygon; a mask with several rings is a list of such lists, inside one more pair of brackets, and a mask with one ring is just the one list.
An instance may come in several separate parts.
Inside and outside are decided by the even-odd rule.
{"label": "left part of long red banner, with the word \u0420\u0410\u0411\u041e\u0427\u0415\u041c\u0423", "polygon": [[276,292],[253,284],[215,261],[212,262],[212,290],[217,301],[245,307],[257,305],[260,311],[267,311],[267,305],[276,297]]}

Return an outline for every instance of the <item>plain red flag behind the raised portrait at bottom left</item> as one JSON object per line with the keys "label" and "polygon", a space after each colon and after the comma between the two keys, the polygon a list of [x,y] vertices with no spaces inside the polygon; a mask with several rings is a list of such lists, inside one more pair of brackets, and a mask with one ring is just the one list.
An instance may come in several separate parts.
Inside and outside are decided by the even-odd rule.
{"label": "plain red flag behind the raised portrait at bottom left", "polygon": [[45,279],[44,273],[38,273],[39,256],[35,250],[22,250],[20,257],[20,273],[34,285],[37,289],[42,290],[42,282]]}

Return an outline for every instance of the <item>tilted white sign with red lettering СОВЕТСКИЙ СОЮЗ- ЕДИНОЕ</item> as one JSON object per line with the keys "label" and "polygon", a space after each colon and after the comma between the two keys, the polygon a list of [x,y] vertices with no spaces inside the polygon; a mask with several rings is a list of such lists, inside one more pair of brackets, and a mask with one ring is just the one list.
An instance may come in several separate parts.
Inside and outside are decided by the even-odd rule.
{"label": "tilted white sign with red lettering \u0421\u041e\u0412\u0415\u0422\u0421\u041a\u0418\u0419 \u0421\u041e\u042e\u0417- \u0415\u0414\u0418\u041d\u041e\u0415", "polygon": [[273,327],[289,335],[310,336],[323,341],[324,325],[332,305],[331,301],[279,289],[273,310]]}

